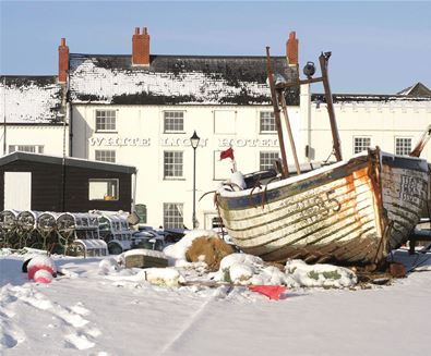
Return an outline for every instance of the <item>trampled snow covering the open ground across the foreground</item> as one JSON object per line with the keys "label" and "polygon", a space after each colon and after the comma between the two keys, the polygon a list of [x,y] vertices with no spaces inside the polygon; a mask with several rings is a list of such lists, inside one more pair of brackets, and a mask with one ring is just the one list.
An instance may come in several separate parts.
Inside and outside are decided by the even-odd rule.
{"label": "trampled snow covering the open ground across the foreground", "polygon": [[[424,263],[392,285],[289,286],[280,300],[270,300],[246,285],[151,284],[143,270],[124,269],[112,256],[53,256],[59,275],[49,284],[35,283],[22,272],[28,255],[3,249],[0,354],[423,356],[429,354],[429,257],[397,250],[395,260],[407,267]],[[264,269],[259,259],[242,256],[229,257],[220,270],[231,273],[240,263],[259,273]],[[295,263],[288,269],[300,271],[301,263]],[[169,269],[204,281],[209,275],[196,266]],[[313,271],[314,281],[331,274],[327,267]],[[169,273],[158,277],[169,280]]]}

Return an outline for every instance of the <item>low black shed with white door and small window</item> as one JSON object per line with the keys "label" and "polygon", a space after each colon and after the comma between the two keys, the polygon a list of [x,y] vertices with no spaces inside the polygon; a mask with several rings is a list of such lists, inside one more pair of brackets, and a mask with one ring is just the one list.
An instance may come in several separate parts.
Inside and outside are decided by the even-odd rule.
{"label": "low black shed with white door and small window", "polygon": [[0,211],[131,211],[130,165],[28,152],[0,157]]}

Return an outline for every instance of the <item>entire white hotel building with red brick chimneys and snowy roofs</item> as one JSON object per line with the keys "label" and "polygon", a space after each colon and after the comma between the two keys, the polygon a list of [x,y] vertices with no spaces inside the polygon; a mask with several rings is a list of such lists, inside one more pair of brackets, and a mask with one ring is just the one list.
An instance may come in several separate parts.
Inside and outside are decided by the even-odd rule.
{"label": "entire white hotel building with red brick chimneys and snowy roofs", "polygon": [[[273,58],[274,72],[294,78],[295,33],[286,49],[286,57]],[[231,146],[243,173],[279,157],[265,57],[152,54],[146,29],[136,28],[132,56],[69,53],[62,40],[58,77],[40,78],[2,77],[3,154],[67,152],[134,165],[134,205],[146,207],[144,222],[153,226],[192,226],[194,131],[202,229],[212,228],[217,211],[211,194],[199,198],[230,175],[220,151]],[[303,86],[286,99],[299,160],[326,160],[332,138],[324,97]],[[368,146],[408,154],[431,124],[431,95],[421,85],[394,96],[334,95],[334,103],[344,158]],[[431,145],[421,157],[431,161]]]}

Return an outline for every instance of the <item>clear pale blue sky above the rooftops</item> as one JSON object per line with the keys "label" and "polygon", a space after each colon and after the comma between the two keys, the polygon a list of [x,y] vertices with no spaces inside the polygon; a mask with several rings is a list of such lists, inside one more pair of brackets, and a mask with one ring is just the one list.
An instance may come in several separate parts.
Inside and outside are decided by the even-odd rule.
{"label": "clear pale blue sky above the rooftops", "polygon": [[72,53],[130,54],[145,26],[154,54],[283,56],[296,30],[301,67],[332,51],[333,93],[395,94],[431,88],[430,13],[429,1],[0,0],[0,74],[57,75],[62,37]]}

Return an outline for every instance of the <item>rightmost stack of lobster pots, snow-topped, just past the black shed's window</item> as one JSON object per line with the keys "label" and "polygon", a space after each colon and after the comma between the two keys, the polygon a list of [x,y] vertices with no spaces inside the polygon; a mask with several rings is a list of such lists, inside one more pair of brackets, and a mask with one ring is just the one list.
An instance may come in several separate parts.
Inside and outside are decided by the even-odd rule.
{"label": "rightmost stack of lobster pots, snow-topped, just past the black shed's window", "polygon": [[108,244],[111,255],[131,249],[133,230],[129,229],[128,214],[115,211],[95,211],[98,214],[99,234]]}

